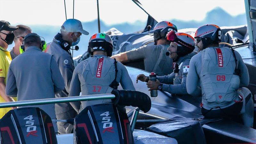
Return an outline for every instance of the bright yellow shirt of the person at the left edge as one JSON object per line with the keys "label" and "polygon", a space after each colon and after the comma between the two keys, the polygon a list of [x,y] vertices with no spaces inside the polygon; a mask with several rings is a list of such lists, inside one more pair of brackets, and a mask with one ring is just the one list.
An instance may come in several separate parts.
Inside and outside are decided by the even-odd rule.
{"label": "bright yellow shirt of the person at the left edge", "polygon": [[[5,50],[3,47],[0,46],[0,77],[4,77],[4,84],[6,84],[8,69],[10,63],[12,61],[10,52]],[[17,101],[17,98],[13,98]],[[0,95],[0,103],[5,102],[5,100]],[[11,108],[0,108],[0,118],[2,118]]]}

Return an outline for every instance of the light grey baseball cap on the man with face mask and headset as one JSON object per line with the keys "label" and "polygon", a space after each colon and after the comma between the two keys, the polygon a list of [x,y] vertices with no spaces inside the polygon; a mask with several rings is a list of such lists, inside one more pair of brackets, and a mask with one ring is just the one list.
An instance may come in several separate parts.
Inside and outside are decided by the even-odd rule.
{"label": "light grey baseball cap on the man with face mask and headset", "polygon": [[89,35],[89,32],[83,29],[82,23],[76,19],[68,19],[61,26],[60,31],[64,32],[80,32],[84,35]]}

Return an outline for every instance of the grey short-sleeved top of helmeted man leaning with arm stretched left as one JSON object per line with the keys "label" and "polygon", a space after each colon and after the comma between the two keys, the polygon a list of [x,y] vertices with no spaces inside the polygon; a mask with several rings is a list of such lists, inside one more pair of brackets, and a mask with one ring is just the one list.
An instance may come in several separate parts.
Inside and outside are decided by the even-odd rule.
{"label": "grey short-sleeved top of helmeted man leaning with arm stretched left", "polygon": [[155,72],[157,76],[169,75],[172,73],[172,59],[166,56],[169,45],[144,45],[138,49],[127,52],[129,61],[144,59],[144,67],[148,72]]}

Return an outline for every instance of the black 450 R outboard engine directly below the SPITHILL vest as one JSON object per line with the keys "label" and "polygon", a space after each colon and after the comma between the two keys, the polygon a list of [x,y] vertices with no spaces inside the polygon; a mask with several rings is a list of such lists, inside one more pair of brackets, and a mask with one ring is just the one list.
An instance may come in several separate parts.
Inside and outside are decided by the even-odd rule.
{"label": "black 450 R outboard engine directly below the SPITHILL vest", "polygon": [[133,144],[127,114],[112,103],[86,107],[75,118],[75,144]]}

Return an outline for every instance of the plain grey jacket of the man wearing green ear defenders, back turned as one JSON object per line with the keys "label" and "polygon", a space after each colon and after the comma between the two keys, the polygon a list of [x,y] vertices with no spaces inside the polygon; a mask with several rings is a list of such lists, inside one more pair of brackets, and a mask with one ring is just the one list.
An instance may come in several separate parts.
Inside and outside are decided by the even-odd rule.
{"label": "plain grey jacket of the man wearing green ear defenders, back turned", "polygon": [[[6,95],[20,100],[54,98],[64,89],[64,81],[53,56],[36,46],[27,47],[10,64]],[[54,104],[38,105],[51,118],[55,118]]]}

